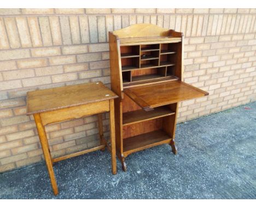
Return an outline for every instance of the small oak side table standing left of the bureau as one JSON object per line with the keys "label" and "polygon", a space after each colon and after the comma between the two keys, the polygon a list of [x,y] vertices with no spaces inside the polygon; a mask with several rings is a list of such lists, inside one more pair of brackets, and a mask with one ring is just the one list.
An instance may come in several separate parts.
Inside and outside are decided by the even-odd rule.
{"label": "small oak side table standing left of the bureau", "polygon": [[[96,150],[104,150],[107,147],[111,152],[112,157],[112,173],[117,174],[114,121],[114,99],[117,97],[118,96],[104,86],[102,82],[29,91],[27,93],[27,115],[33,114],[34,116],[51,180],[51,186],[53,187],[55,195],[59,193],[59,190],[54,176],[54,162]],[[110,115],[110,145],[103,137],[101,113],[104,112],[109,112]],[[100,145],[95,148],[75,152],[70,155],[52,158],[44,126],[61,121],[78,119],[93,114],[98,114]]]}

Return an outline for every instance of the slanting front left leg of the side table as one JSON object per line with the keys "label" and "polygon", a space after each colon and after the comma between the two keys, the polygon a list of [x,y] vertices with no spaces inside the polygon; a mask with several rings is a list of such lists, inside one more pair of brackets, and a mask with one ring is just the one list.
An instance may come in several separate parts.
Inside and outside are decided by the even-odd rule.
{"label": "slanting front left leg of the side table", "polygon": [[45,133],[44,125],[42,124],[42,120],[40,118],[40,114],[34,114],[34,120],[36,121],[37,131],[40,138],[40,143],[42,145],[45,163],[51,180],[51,186],[53,187],[54,195],[57,195],[59,193],[59,190],[54,176],[53,162],[51,161],[48,139]]}

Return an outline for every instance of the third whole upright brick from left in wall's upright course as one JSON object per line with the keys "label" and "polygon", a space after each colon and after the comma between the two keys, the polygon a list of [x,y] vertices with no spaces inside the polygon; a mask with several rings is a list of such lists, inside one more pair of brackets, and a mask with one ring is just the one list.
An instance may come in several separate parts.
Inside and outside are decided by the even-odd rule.
{"label": "third whole upright brick from left in wall's upright course", "polygon": [[32,45],[34,47],[43,46],[37,17],[27,17],[27,22],[28,22],[28,27],[30,28]]}

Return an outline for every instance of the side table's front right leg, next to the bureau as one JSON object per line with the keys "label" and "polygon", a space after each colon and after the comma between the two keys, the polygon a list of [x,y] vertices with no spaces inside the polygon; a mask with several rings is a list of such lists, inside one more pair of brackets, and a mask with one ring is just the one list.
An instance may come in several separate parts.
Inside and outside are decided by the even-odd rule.
{"label": "side table's front right leg, next to the bureau", "polygon": [[117,157],[115,155],[115,112],[114,100],[109,101],[109,127],[110,127],[110,142],[111,142],[111,161],[112,161],[112,174],[117,174]]}

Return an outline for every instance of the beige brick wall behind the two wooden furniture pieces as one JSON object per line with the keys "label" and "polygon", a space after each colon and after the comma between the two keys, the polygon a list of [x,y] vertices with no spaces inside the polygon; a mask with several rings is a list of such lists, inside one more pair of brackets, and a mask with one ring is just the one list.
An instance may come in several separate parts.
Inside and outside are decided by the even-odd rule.
{"label": "beige brick wall behind the two wooden furniture pieces", "polygon": [[[144,22],[184,33],[184,81],[210,95],[179,103],[178,122],[256,100],[256,9],[0,9],[0,15],[0,172],[43,160],[26,116],[27,91],[110,86],[109,30]],[[49,125],[53,156],[97,144],[95,121]]]}

